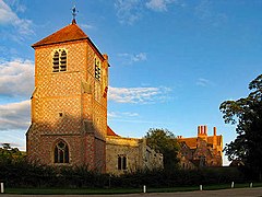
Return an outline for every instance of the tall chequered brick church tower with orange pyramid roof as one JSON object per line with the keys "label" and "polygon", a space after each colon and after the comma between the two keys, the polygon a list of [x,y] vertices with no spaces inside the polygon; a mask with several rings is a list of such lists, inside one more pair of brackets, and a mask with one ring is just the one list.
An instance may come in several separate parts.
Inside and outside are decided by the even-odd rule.
{"label": "tall chequered brick church tower with orange pyramid roof", "polygon": [[35,90],[26,134],[28,159],[105,172],[107,55],[100,54],[75,19],[32,47]]}

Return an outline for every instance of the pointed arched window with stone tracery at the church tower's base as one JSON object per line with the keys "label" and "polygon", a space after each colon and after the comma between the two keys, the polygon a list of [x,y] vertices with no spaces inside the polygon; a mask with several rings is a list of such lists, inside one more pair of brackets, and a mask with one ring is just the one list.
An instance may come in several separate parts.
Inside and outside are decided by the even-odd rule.
{"label": "pointed arched window with stone tracery at the church tower's base", "polygon": [[69,148],[64,141],[59,141],[55,146],[53,157],[55,163],[69,163]]}

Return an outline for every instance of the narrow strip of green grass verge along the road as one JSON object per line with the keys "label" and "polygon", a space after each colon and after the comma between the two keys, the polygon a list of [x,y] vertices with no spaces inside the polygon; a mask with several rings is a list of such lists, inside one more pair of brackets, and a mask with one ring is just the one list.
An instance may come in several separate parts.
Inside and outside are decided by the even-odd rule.
{"label": "narrow strip of green grass verge along the road", "polygon": [[[203,185],[203,190],[226,189],[230,184]],[[249,187],[249,184],[235,184],[235,188]],[[253,187],[262,187],[262,183],[253,183]],[[199,186],[169,187],[169,188],[147,188],[147,193],[176,193],[199,190]],[[112,195],[112,194],[135,194],[142,193],[141,188],[5,188],[5,194],[17,195]]]}

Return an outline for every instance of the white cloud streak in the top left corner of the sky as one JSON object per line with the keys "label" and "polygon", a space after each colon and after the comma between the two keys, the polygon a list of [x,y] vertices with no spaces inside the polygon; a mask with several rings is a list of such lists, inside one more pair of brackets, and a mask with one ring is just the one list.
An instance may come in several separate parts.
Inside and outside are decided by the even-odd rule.
{"label": "white cloud streak in the top left corner of the sky", "polygon": [[[17,3],[16,3],[17,4]],[[24,5],[16,5],[16,11],[25,11]],[[14,31],[16,31],[22,36],[28,36],[34,34],[32,28],[33,22],[31,20],[21,19],[17,14],[3,1],[0,1],[0,25],[12,25]],[[16,39],[23,39],[19,36]]]}

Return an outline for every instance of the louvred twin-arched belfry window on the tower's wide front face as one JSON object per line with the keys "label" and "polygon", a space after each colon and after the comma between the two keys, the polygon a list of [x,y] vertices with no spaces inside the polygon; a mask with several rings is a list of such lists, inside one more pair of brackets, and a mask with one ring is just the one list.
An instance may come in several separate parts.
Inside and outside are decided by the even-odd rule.
{"label": "louvred twin-arched belfry window on the tower's wide front face", "polygon": [[66,49],[58,49],[52,56],[52,72],[67,71],[67,51]]}

